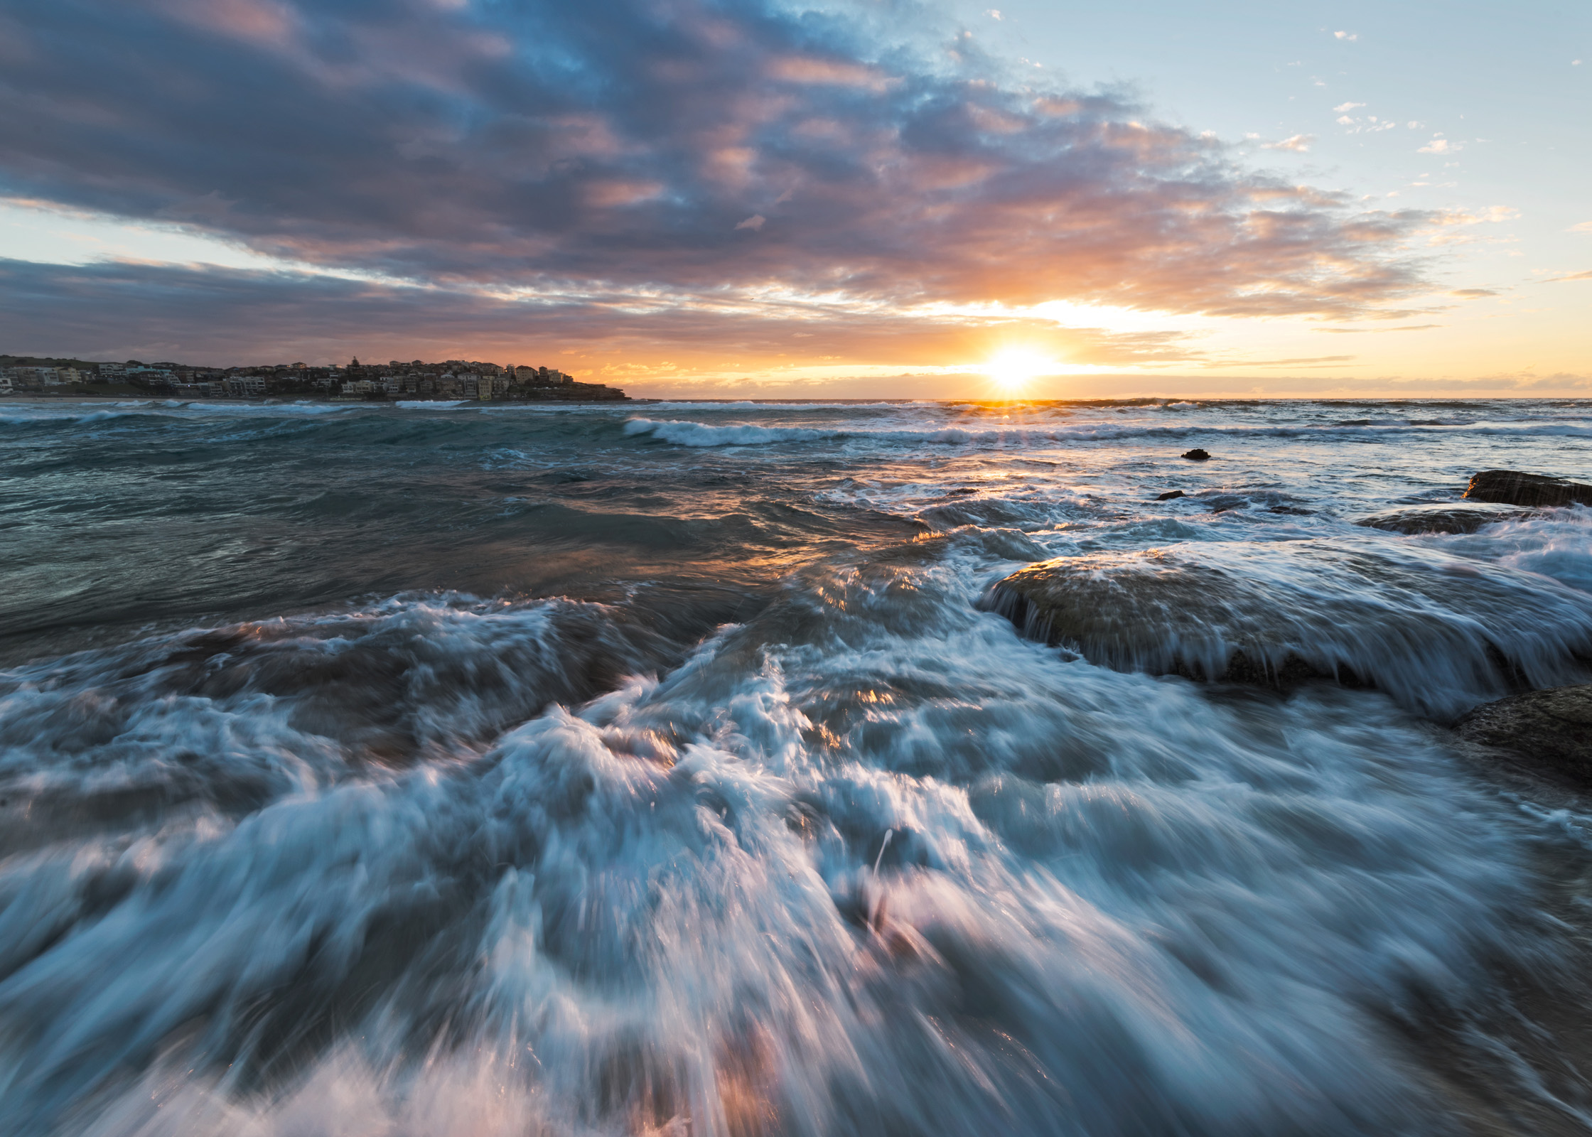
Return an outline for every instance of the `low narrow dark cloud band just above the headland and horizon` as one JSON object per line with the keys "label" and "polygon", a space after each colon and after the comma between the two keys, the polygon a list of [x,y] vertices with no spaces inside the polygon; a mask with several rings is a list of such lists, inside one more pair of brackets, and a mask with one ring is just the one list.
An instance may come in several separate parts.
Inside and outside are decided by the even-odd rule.
{"label": "low narrow dark cloud band just above the headland and horizon", "polygon": [[[737,363],[933,366],[1022,336],[1078,363],[1188,360],[1175,334],[1059,330],[1044,320],[912,317],[855,306],[503,299],[298,272],[110,261],[0,260],[0,342],[32,355],[172,358],[228,366],[295,358],[560,361],[592,377],[654,379]],[[283,346],[291,346],[283,347]]]}

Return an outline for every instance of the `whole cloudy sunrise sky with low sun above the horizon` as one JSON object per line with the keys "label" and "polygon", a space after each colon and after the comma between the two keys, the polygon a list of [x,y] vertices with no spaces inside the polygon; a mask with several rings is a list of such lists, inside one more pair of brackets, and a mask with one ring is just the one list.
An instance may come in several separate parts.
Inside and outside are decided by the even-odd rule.
{"label": "whole cloudy sunrise sky with low sun above the horizon", "polygon": [[0,350],[1592,397],[1592,5],[6,0]]}

